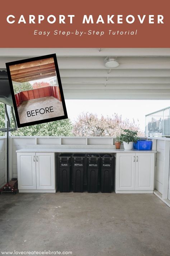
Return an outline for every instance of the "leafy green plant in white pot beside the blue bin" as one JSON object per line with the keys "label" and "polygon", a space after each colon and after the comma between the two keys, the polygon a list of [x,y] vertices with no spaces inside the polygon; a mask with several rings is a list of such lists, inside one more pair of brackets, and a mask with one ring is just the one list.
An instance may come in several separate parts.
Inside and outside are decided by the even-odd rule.
{"label": "leafy green plant in white pot beside the blue bin", "polygon": [[138,140],[137,131],[132,131],[129,129],[124,129],[120,136],[121,142],[123,142],[124,149],[132,150],[133,142],[136,143]]}

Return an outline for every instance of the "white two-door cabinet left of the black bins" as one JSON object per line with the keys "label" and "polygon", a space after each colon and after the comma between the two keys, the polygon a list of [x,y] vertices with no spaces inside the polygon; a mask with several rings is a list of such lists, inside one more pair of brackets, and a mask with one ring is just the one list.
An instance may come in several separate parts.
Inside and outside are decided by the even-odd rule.
{"label": "white two-door cabinet left of the black bins", "polygon": [[19,192],[56,192],[55,153],[17,153]]}

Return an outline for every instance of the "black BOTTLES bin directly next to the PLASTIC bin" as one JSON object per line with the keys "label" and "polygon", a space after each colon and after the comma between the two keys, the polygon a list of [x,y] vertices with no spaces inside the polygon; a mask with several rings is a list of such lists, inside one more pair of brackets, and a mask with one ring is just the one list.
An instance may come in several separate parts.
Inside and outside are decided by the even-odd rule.
{"label": "black BOTTLES bin directly next to the PLASTIC bin", "polygon": [[100,157],[97,154],[88,154],[87,158],[88,168],[88,192],[98,192]]}

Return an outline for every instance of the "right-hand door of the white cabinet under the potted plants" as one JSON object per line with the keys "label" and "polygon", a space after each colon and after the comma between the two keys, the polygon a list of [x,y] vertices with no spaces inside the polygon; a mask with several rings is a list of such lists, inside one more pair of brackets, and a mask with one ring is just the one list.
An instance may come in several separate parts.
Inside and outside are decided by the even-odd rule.
{"label": "right-hand door of the white cabinet under the potted plants", "polygon": [[136,153],[135,188],[154,189],[154,153]]}

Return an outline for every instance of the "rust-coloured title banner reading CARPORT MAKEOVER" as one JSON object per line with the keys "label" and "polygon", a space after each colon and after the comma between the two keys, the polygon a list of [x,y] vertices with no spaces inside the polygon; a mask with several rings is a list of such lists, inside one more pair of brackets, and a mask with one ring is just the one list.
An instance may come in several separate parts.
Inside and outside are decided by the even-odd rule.
{"label": "rust-coloured title banner reading CARPORT MAKEOVER", "polygon": [[169,10],[169,0],[3,1],[0,47],[169,48]]}

